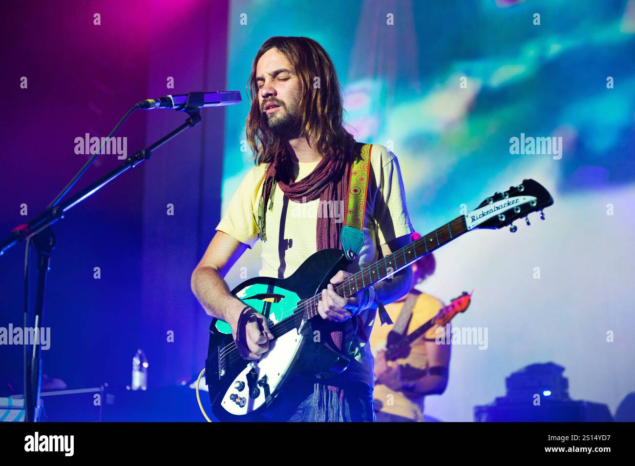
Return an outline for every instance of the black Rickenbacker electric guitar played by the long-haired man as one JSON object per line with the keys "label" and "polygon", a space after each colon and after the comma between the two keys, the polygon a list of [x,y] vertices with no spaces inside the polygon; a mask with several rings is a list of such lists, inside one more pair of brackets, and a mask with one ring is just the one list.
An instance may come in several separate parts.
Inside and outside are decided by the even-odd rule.
{"label": "black Rickenbacker electric guitar played by the long-haired man", "polygon": [[[517,228],[513,221],[525,217],[529,224],[527,215],[538,210],[544,219],[542,209],[552,204],[549,191],[533,179],[525,179],[504,193],[486,198],[476,210],[362,268],[337,285],[335,291],[352,297],[468,231],[509,225],[514,232]],[[343,332],[344,323],[323,320],[318,302],[321,290],[347,264],[343,250],[323,249],[287,278],[258,276],[232,290],[238,299],[264,314],[274,339],[260,359],[248,361],[241,358],[229,324],[212,320],[205,379],[214,420],[271,420],[268,408],[283,394],[291,377],[302,374],[324,379],[344,372],[349,356],[330,337],[332,332]]]}

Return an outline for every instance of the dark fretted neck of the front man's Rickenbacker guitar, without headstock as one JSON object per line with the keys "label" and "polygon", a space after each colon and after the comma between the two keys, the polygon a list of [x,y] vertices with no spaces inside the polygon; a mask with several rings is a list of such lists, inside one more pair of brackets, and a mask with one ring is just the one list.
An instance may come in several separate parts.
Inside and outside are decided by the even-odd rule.
{"label": "dark fretted neck of the front man's Rickenbacker guitar, without headstock", "polygon": [[[357,292],[381,282],[418,259],[427,256],[432,251],[463,235],[466,231],[465,216],[458,216],[450,223],[446,223],[431,233],[396,250],[389,256],[379,259],[370,266],[362,268],[359,272],[349,276],[340,285],[337,285],[335,291],[340,296],[352,297]],[[304,313],[305,318],[310,319],[317,315],[317,302],[307,306]]]}

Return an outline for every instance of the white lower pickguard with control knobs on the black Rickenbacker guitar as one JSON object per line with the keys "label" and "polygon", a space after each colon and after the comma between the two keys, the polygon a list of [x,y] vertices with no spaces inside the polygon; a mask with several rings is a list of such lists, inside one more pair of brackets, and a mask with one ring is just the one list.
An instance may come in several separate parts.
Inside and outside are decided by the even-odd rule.
{"label": "white lower pickguard with control knobs on the black Rickenbacker guitar", "polygon": [[[251,398],[249,395],[249,385],[247,383],[247,374],[251,368],[255,368],[258,374],[257,380],[267,375],[267,384],[269,385],[270,394],[274,393],[278,386],[286,376],[286,372],[291,368],[291,363],[297,355],[304,335],[298,335],[295,328],[284,333],[269,342],[269,351],[260,359],[251,361],[244,370],[234,379],[230,388],[225,392],[221,405],[228,413],[236,416],[246,415],[257,410],[265,404],[267,398],[263,387],[258,386],[260,394],[257,398]],[[243,382],[244,388],[238,391],[235,387],[237,382]],[[236,394],[237,400],[233,401],[230,397]],[[244,406],[241,406],[241,398],[244,398]]]}

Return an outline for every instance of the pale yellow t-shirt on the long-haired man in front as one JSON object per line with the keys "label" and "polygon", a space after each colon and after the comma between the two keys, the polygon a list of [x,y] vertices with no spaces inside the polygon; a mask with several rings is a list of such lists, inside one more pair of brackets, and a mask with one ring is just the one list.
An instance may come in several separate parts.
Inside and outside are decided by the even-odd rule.
{"label": "pale yellow t-shirt on the long-haired man in front", "polygon": [[[298,176],[295,181],[300,181],[310,174],[318,163],[299,163],[296,167]],[[260,237],[256,219],[267,167],[268,164],[251,167],[232,195],[227,210],[216,227],[216,230],[224,231],[250,248]],[[410,235],[414,231],[408,216],[397,157],[384,146],[373,144],[370,167],[363,224],[364,244],[356,259],[347,268],[351,273],[377,261],[381,245],[394,238]],[[292,202],[277,183],[274,184],[274,188],[276,193],[273,210],[267,210],[267,241],[262,243],[262,268],[258,275],[286,278],[317,251],[318,215],[322,213],[318,212],[319,199],[305,203]],[[345,220],[345,204],[347,199],[340,205],[334,204],[331,210],[342,223]],[[361,313],[363,331],[367,337],[370,335],[375,313],[376,309],[367,309]],[[353,332],[354,328],[349,319],[345,339],[349,340]],[[344,379],[357,380],[372,386],[371,352],[365,351],[359,363],[353,361],[343,376]]]}

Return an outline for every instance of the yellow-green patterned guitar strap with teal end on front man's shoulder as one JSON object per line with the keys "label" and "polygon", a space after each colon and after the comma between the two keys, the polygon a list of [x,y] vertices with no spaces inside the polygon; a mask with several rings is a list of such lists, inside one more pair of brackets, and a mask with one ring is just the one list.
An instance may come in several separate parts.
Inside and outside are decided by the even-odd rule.
{"label": "yellow-green patterned guitar strap with teal end on front man's shoulder", "polygon": [[[346,209],[344,226],[340,231],[340,243],[349,261],[355,259],[364,245],[364,214],[366,214],[366,195],[368,194],[368,178],[370,172],[371,144],[355,144],[355,157],[349,179],[349,202]],[[359,155],[358,155],[359,154]],[[379,319],[384,325],[392,325],[384,304],[378,302]],[[358,316],[359,318],[359,316]],[[358,326],[358,333],[361,328]],[[361,332],[363,334],[363,332]]]}

